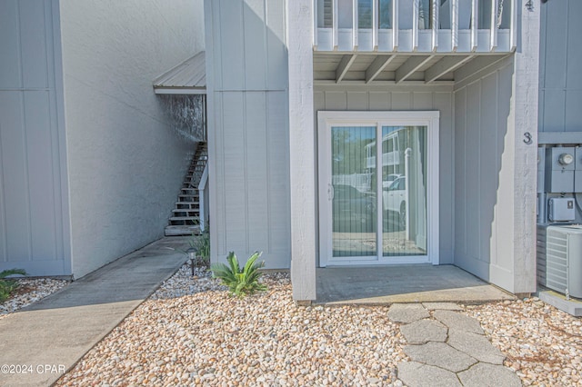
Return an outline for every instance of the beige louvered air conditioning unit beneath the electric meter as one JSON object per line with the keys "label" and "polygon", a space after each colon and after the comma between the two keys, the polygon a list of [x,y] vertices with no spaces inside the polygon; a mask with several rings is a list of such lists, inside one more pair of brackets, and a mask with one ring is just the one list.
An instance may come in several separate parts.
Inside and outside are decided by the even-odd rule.
{"label": "beige louvered air conditioning unit beneath the electric meter", "polygon": [[582,298],[582,225],[537,226],[537,281]]}

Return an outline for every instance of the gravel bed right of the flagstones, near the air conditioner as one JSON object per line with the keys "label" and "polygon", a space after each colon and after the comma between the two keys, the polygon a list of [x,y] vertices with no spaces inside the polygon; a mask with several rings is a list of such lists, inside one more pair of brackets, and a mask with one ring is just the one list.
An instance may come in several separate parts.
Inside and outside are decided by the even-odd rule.
{"label": "gravel bed right of the flagstones, near the air conditioner", "polygon": [[536,297],[467,306],[524,385],[582,386],[582,319]]}

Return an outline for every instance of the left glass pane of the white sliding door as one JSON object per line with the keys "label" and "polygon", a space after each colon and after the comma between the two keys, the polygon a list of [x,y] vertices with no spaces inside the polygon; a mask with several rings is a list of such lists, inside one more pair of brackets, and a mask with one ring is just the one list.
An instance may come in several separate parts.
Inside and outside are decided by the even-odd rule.
{"label": "left glass pane of the white sliding door", "polygon": [[376,126],[331,128],[333,257],[376,259],[375,140]]}

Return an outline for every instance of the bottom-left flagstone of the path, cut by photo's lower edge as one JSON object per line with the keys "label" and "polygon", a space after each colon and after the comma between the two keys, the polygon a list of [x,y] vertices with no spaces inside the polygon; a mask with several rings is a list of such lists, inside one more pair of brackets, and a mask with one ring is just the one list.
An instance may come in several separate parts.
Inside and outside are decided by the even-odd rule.
{"label": "bottom-left flagstone of the path, cut by photo's lower edge", "polygon": [[420,362],[399,363],[397,376],[409,387],[426,387],[426,385],[431,387],[461,386],[455,373]]}

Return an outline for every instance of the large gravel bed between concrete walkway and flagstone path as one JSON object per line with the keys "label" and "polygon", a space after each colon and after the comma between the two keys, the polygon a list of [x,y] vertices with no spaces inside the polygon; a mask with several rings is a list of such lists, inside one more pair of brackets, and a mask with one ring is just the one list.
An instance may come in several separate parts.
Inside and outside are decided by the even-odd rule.
{"label": "large gravel bed between concrete walkway and flagstone path", "polygon": [[188,270],[56,385],[402,385],[404,339],[387,307],[298,307],[286,273],[266,274],[267,292],[236,299]]}

